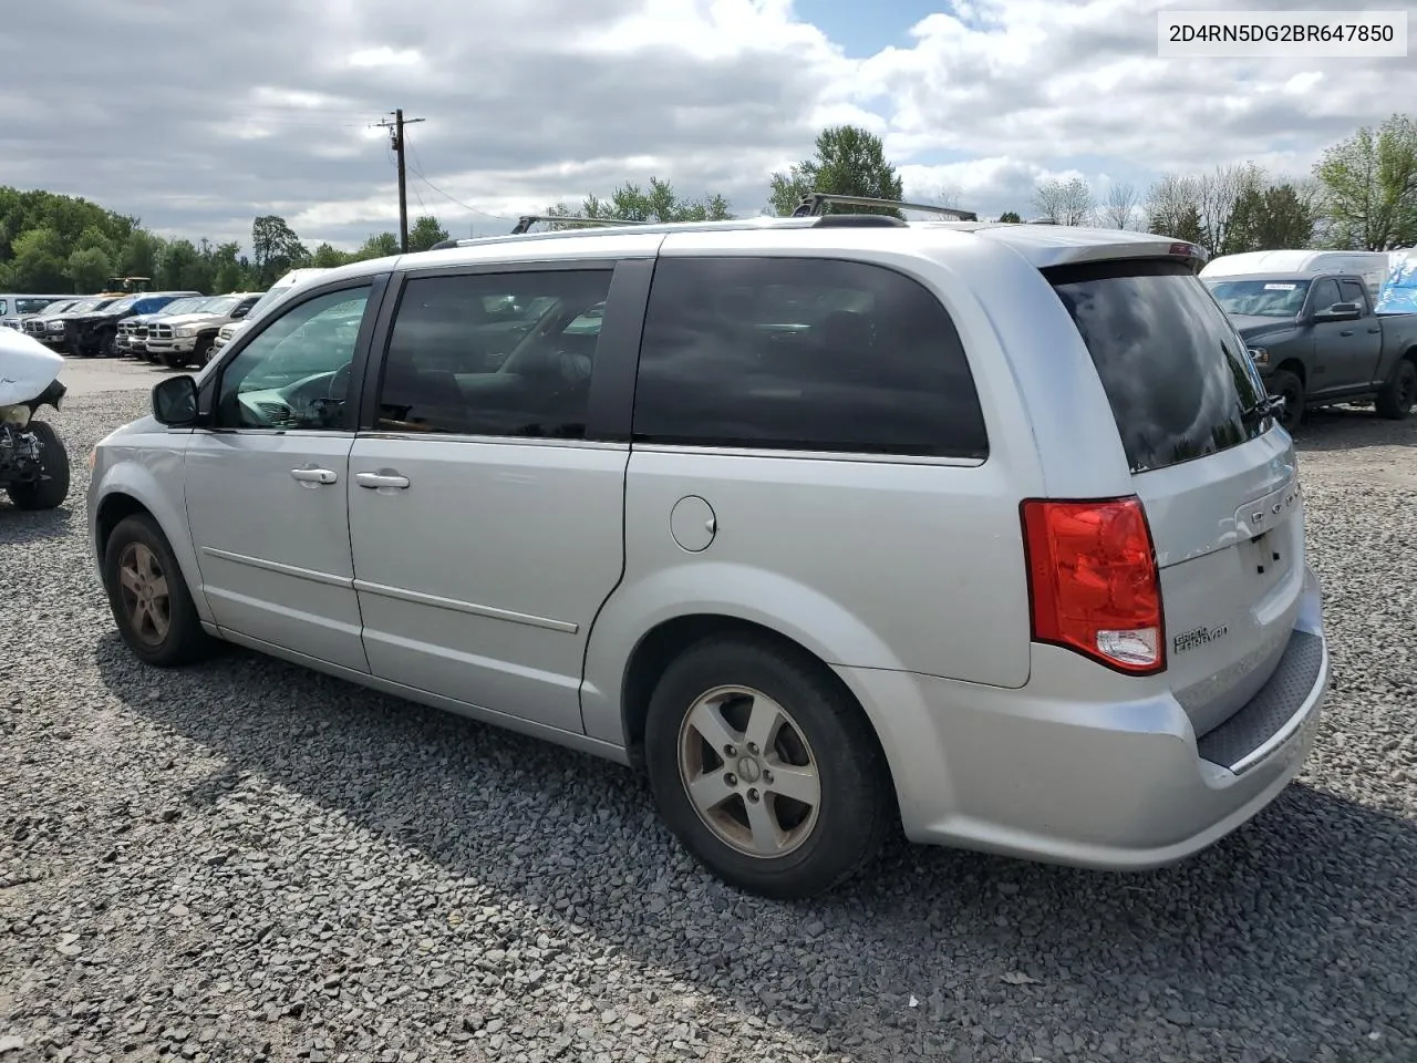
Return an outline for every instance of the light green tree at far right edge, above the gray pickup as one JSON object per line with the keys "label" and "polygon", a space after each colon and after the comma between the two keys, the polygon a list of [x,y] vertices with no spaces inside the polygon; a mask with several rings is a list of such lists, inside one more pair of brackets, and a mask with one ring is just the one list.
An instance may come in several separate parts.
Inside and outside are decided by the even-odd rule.
{"label": "light green tree at far right edge, above the gray pickup", "polygon": [[1314,166],[1323,184],[1332,240],[1390,251],[1417,242],[1417,120],[1391,115],[1329,147]]}

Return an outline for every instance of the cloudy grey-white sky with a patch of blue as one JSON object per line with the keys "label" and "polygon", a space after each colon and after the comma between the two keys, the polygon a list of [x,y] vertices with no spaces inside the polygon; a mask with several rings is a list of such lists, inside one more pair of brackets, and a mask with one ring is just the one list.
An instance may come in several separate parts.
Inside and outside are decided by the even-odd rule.
{"label": "cloudy grey-white sky with a patch of blue", "polygon": [[[0,184],[167,234],[307,245],[455,235],[667,177],[767,201],[828,123],[886,140],[907,196],[1030,211],[1050,176],[1145,187],[1255,160],[1304,174],[1417,99],[1417,61],[1156,58],[1162,7],[1216,0],[17,0],[0,20]],[[1411,3],[1382,4],[1413,10]],[[1229,7],[1238,7],[1230,4]],[[1248,0],[1247,10],[1338,7]],[[1413,18],[1417,23],[1417,18]]]}

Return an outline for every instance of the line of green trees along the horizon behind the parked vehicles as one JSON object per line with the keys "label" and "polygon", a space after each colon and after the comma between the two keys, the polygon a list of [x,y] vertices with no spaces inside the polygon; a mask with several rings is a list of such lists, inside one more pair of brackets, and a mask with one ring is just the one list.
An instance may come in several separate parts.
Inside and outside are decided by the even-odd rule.
{"label": "line of green trees along the horizon behind the parked vehicles", "polygon": [[[879,136],[857,126],[832,126],[818,135],[811,157],[771,174],[761,213],[791,214],[809,191],[901,200],[903,184]],[[917,198],[961,206],[949,190]],[[1034,217],[1156,232],[1200,244],[1212,255],[1411,247],[1417,244],[1417,119],[1394,113],[1374,128],[1363,126],[1325,150],[1305,176],[1270,174],[1254,163],[1240,163],[1202,174],[1166,174],[1145,191],[1114,181],[1098,194],[1080,177],[1046,180],[1032,198]],[[900,215],[888,207],[866,210]],[[648,186],[626,181],[606,197],[587,196],[577,208],[561,201],[544,213],[622,221],[733,217],[724,196],[686,197],[660,177],[650,177]],[[998,220],[1024,218],[1005,211]],[[551,228],[558,227],[564,225],[551,223]],[[410,228],[408,247],[425,251],[446,238],[438,218],[425,214]],[[146,276],[154,289],[166,291],[262,291],[289,269],[397,252],[394,232],[371,234],[354,251],[329,242],[312,251],[273,214],[252,221],[249,252],[238,241],[169,240],[136,217],[85,198],[0,187],[0,291],[88,293],[118,276]]]}

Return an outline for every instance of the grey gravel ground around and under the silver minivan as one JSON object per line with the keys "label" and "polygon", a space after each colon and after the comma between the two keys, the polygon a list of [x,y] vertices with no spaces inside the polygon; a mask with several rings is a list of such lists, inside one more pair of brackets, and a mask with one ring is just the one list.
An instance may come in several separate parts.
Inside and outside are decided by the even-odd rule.
{"label": "grey gravel ground around and under the silver minivan", "polygon": [[[897,846],[805,906],[609,764],[244,652],[132,663],[69,507],[0,503],[0,1063],[1417,1059],[1417,421],[1301,432],[1336,679],[1183,866]],[[1406,472],[1404,472],[1406,466]]]}

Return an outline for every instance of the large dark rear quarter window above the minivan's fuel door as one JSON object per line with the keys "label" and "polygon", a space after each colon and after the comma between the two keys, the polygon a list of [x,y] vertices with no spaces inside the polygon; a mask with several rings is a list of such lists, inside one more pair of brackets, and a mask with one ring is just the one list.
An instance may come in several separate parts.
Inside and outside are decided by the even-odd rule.
{"label": "large dark rear quarter window above the minivan's fuel door", "polygon": [[988,455],[944,305],[893,269],[816,258],[660,259],[633,432],[680,445]]}

